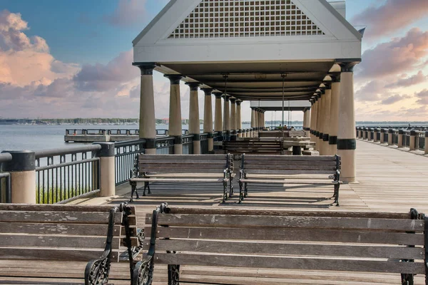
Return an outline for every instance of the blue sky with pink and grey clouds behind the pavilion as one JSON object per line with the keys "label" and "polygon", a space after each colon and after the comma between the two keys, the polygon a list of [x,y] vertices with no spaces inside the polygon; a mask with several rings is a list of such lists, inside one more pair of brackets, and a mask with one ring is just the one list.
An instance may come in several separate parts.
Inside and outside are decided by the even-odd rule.
{"label": "blue sky with pink and grey clouds behind the pavilion", "polygon": [[[167,3],[0,0],[0,118],[138,118],[132,40]],[[427,121],[428,1],[347,0],[347,20],[367,27],[355,67],[356,120]],[[169,82],[153,78],[156,118],[168,118]],[[180,90],[188,118],[189,88]],[[249,103],[242,117],[250,120]]]}

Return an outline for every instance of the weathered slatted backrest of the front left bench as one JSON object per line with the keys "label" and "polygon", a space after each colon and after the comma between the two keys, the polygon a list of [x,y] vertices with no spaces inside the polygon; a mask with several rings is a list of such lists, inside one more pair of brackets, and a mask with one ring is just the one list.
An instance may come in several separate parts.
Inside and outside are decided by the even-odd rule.
{"label": "weathered slatted backrest of the front left bench", "polygon": [[[110,206],[0,204],[0,259],[89,261],[106,247]],[[131,244],[138,247],[135,207]],[[123,214],[114,214],[111,261],[126,252]]]}

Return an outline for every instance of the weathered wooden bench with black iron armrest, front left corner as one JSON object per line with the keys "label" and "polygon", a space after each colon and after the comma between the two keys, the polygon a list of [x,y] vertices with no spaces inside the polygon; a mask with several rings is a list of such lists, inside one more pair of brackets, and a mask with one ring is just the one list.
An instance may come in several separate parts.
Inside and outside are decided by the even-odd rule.
{"label": "weathered wooden bench with black iron armrest, front left corner", "polygon": [[[0,266],[0,283],[16,278],[42,284],[40,277],[51,277],[46,283],[56,284],[84,277],[85,284],[106,284],[110,263],[133,265],[142,241],[135,207],[126,204],[0,204],[0,262],[14,264]],[[78,262],[87,263],[84,274],[70,267]]]}

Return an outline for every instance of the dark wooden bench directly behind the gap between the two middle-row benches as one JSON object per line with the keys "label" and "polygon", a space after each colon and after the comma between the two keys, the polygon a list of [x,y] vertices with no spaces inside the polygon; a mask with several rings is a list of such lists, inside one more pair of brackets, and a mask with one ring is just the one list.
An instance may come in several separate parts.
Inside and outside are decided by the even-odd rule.
{"label": "dark wooden bench directly behind the gap between the two middle-row benches", "polygon": [[233,155],[242,155],[244,153],[258,155],[282,155],[282,145],[279,140],[224,141],[223,150]]}

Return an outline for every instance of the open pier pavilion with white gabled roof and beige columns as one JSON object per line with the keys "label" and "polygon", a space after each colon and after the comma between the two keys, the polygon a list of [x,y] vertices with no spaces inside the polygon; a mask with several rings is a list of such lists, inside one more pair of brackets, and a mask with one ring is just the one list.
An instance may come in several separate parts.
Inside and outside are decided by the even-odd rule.
{"label": "open pier pavilion with white gabled roof and beige columns", "polygon": [[[156,70],[170,79],[169,135],[175,137],[175,153],[182,151],[179,85],[184,81],[190,88],[195,153],[198,88],[205,92],[209,150],[213,113],[214,130],[234,140],[241,132],[241,101],[306,100],[312,108],[305,109],[305,128],[320,154],[340,155],[342,180],[355,181],[353,68],[360,62],[362,35],[346,21],[344,7],[335,6],[325,0],[170,1],[133,41],[133,65],[141,69],[140,138],[146,139],[146,153],[156,151]],[[263,109],[253,108],[251,118],[252,128],[259,130]]]}

